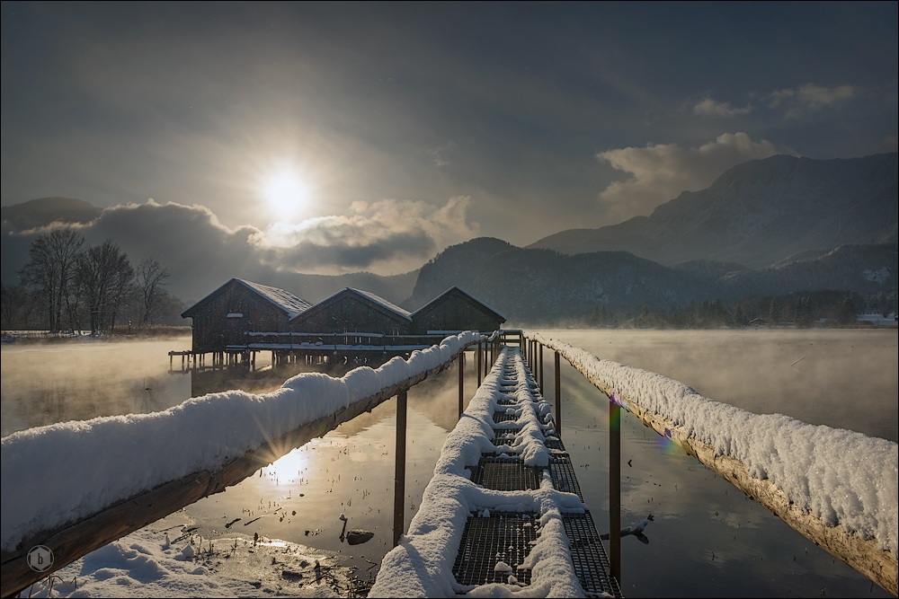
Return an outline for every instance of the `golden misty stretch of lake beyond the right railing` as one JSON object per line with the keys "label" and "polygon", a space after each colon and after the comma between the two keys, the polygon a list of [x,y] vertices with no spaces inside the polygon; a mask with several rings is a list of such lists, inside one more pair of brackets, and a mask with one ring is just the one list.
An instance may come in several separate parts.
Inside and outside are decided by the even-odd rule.
{"label": "golden misty stretch of lake beyond the right railing", "polygon": [[756,414],[899,441],[899,331],[550,330],[600,359]]}

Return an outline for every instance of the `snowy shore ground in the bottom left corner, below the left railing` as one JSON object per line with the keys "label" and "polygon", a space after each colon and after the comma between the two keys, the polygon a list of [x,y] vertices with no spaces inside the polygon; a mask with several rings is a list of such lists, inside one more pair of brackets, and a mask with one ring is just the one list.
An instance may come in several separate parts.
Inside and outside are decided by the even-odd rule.
{"label": "snowy shore ground in the bottom left corner, below the left railing", "polygon": [[178,512],[25,589],[31,597],[336,597],[355,584],[333,552],[240,537],[210,544]]}

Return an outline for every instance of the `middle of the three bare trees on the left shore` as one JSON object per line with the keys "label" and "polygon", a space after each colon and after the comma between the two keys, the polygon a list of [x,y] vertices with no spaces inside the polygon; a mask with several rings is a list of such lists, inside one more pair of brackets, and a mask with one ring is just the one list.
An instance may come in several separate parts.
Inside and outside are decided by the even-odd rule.
{"label": "middle of the three bare trees on the left shore", "polygon": [[76,271],[91,314],[91,330],[109,330],[115,326],[115,315],[134,278],[128,255],[108,239],[85,251]]}

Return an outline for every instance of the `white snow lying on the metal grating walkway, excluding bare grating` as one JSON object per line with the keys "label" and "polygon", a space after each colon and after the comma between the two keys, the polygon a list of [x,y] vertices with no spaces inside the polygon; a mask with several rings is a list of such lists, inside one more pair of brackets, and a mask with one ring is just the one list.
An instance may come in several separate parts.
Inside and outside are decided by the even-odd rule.
{"label": "white snow lying on the metal grating walkway, excluding bare grating", "polygon": [[[514,406],[501,405],[510,399],[501,392],[501,383],[509,384],[503,368],[512,366],[517,386]],[[378,579],[369,596],[448,597],[467,596],[581,597],[583,588],[574,572],[563,512],[583,513],[585,506],[572,493],[553,489],[544,471],[539,489],[498,491],[485,489],[470,480],[466,466],[476,464],[482,454],[501,453],[520,457],[525,465],[547,466],[551,452],[544,445],[544,432],[554,434],[547,401],[534,401],[528,384],[529,374],[521,351],[504,348],[496,364],[468,404],[458,425],[447,436],[434,477],[424,490],[422,505],[409,524],[409,532],[381,562]],[[494,423],[494,412],[508,411],[517,421]],[[543,424],[542,421],[547,422]],[[513,445],[494,446],[494,428],[521,428]],[[490,512],[536,513],[539,516],[539,542],[521,564],[506,564],[496,556],[494,569],[512,572],[516,567],[530,569],[530,586],[519,586],[515,577],[509,584],[461,586],[453,576],[453,562],[466,520],[472,512],[489,517]],[[506,569],[508,568],[508,569]],[[499,570],[496,570],[499,571]]]}

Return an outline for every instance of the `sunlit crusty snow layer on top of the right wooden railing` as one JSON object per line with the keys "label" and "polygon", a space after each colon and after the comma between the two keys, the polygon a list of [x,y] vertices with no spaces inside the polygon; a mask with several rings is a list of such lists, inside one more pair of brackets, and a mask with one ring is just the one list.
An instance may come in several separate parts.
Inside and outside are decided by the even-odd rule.
{"label": "sunlit crusty snow layer on top of the right wooden railing", "polygon": [[[683,427],[686,436],[742,461],[752,476],[769,479],[797,507],[848,533],[877,537],[899,555],[899,445],[861,433],[806,424],[783,414],[752,414],[711,401],[679,381],[601,360],[589,351],[534,335],[583,374]],[[851,401],[851,398],[846,398]],[[621,401],[625,409],[627,401]]]}

